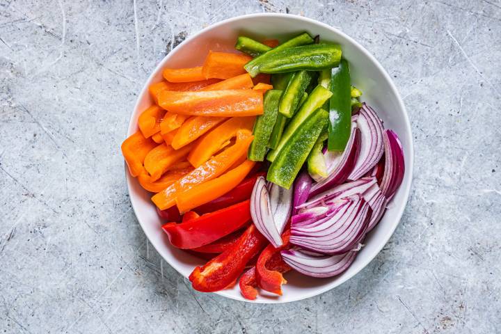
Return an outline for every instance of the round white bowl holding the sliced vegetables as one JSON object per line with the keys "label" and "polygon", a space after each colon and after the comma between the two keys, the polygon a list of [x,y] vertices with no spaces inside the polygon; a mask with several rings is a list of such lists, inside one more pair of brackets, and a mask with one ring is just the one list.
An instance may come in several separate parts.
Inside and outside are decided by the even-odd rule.
{"label": "round white bowl holding the sliced vegetables", "polygon": [[[374,56],[369,54],[358,42],[341,31],[314,19],[286,14],[253,14],[233,17],[208,26],[199,33],[186,38],[159,63],[138,96],[127,132],[127,135],[136,132],[139,114],[153,103],[148,93],[148,86],[162,79],[161,72],[164,67],[200,65],[211,49],[234,51],[234,43],[239,35],[247,35],[257,40],[278,38],[283,41],[303,31],[312,36],[320,35],[323,41],[336,42],[341,45],[343,56],[350,63],[352,83],[363,91],[362,100],[379,113],[386,128],[393,129],[399,135],[405,153],[406,172],[404,181],[390,203],[390,207],[386,210],[383,219],[368,235],[365,247],[360,250],[355,262],[347,271],[333,278],[321,279],[310,278],[294,272],[287,273],[285,277],[288,283],[283,287],[283,296],[259,295],[254,301],[255,303],[299,301],[337,287],[374,259],[397,228],[411,189],[414,152],[411,125],[404,102],[402,102],[388,73]],[[125,169],[127,170],[127,168]],[[170,246],[166,234],[160,228],[161,221],[154,205],[150,201],[152,194],[141,188],[137,180],[129,175],[128,170],[126,174],[132,207],[146,236],[168,264],[182,276],[188,277],[193,268],[196,265],[204,264],[204,261]],[[216,293],[231,299],[248,301],[241,296],[238,285],[233,289]]]}

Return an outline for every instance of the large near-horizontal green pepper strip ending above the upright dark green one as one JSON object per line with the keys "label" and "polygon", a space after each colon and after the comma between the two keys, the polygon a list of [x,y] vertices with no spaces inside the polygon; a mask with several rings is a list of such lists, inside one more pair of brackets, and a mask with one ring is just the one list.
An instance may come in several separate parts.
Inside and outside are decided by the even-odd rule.
{"label": "large near-horizontal green pepper strip ending above the upright dark green one", "polygon": [[[324,70],[339,65],[341,47],[333,44],[311,44],[300,47],[271,49],[245,65],[251,77],[258,73],[283,73],[299,70]],[[273,53],[272,53],[273,52]],[[253,63],[252,66],[249,64]]]}

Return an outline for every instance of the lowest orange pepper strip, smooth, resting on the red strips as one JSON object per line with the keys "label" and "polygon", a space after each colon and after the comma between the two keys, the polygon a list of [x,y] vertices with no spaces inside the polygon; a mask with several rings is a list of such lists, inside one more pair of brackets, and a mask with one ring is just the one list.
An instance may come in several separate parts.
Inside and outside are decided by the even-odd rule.
{"label": "lowest orange pepper strip, smooth, resting on the red strips", "polygon": [[244,164],[241,164],[237,168],[233,168],[216,179],[183,191],[175,199],[177,209],[180,212],[186,212],[223,196],[245,179],[247,174],[254,167],[254,164],[255,161],[244,161]]}

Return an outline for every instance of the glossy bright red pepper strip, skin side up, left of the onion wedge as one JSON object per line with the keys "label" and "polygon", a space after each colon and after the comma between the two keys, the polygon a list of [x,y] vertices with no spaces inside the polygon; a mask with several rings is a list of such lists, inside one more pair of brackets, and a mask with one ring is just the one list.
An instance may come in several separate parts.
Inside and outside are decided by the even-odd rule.
{"label": "glossy bright red pepper strip, skin side up, left of the onion wedge", "polygon": [[249,221],[250,200],[246,200],[181,224],[166,223],[162,228],[167,233],[170,244],[190,249],[221,239]]}

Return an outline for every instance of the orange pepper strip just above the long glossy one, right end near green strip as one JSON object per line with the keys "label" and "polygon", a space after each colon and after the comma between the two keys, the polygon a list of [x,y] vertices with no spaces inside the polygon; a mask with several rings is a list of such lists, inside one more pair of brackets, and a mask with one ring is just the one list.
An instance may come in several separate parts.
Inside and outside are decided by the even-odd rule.
{"label": "orange pepper strip just above the long glossy one, right end near green strip", "polygon": [[196,143],[188,154],[188,161],[193,167],[200,166],[221,150],[225,143],[237,135],[240,129],[248,129],[252,132],[254,122],[255,117],[232,117],[226,120]]}

